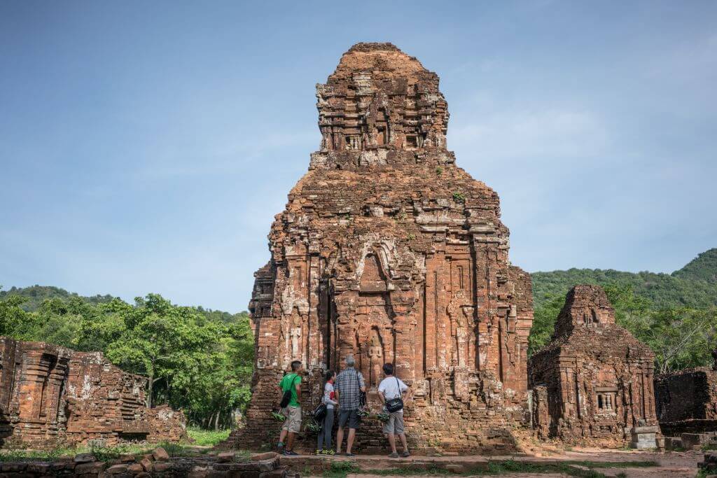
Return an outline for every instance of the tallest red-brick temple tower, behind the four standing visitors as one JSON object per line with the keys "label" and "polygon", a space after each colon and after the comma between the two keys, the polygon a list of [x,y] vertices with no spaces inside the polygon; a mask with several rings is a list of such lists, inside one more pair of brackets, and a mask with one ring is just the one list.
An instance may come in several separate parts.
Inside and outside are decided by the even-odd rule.
{"label": "tallest red-brick temple tower, behind the four standing visitors", "polygon": [[[508,262],[498,195],[446,149],[438,76],[388,43],[351,47],[317,85],[320,150],[269,236],[250,303],[256,373],[237,446],[275,442],[276,383],[352,353],[377,410],[381,365],[412,387],[418,447],[501,451],[526,417],[531,277]],[[375,420],[374,420],[375,421]],[[359,447],[384,446],[365,421]]]}

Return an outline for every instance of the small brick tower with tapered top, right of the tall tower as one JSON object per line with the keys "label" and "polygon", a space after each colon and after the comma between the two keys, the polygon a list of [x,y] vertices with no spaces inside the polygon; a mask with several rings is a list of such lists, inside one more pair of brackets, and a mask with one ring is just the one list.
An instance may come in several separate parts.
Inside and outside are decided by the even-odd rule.
{"label": "small brick tower with tapered top, right of the tall tower", "polygon": [[601,287],[573,287],[551,343],[528,363],[538,436],[654,447],[654,358],[647,345],[615,323]]}

